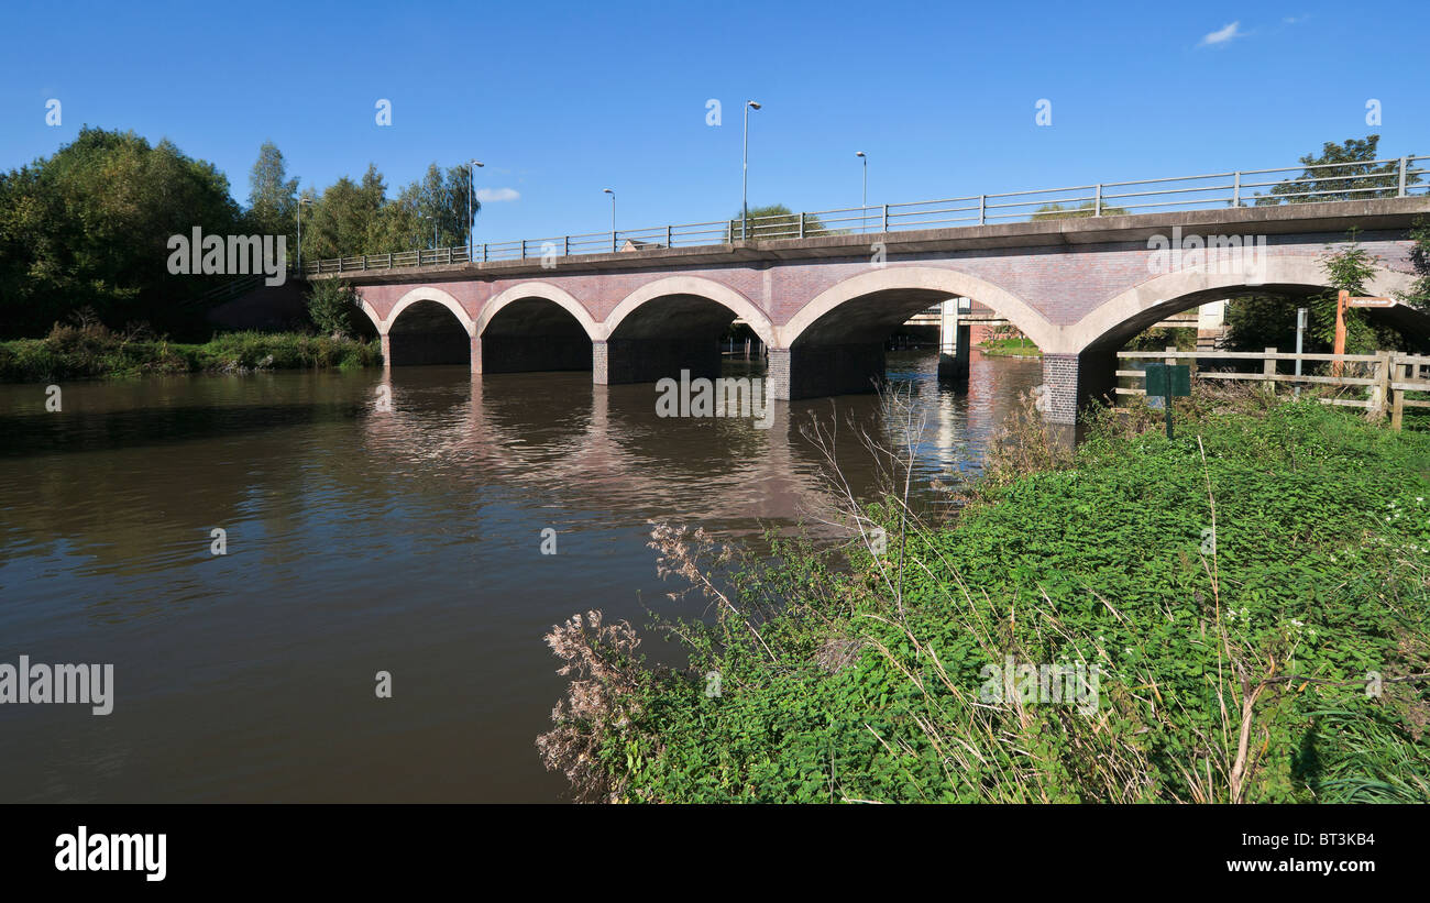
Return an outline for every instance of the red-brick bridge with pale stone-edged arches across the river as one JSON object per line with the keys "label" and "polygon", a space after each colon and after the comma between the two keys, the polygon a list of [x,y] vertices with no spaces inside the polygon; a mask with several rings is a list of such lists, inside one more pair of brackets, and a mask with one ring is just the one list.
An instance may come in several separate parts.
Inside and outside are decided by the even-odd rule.
{"label": "red-brick bridge with pale stone-edged arches across the river", "polygon": [[[1048,419],[1072,423],[1087,400],[1115,384],[1114,353],[1128,339],[1246,290],[1320,293],[1324,246],[1351,227],[1380,257],[1370,291],[1404,289],[1407,229],[1427,211],[1430,197],[1227,207],[310,279],[358,287],[392,366],[589,369],[602,384],[655,381],[681,369],[715,376],[718,340],[738,317],[768,346],[776,399],[868,391],[884,373],[884,340],[898,324],[931,304],[968,297],[1042,349]],[[1228,237],[1257,250],[1227,250]],[[1185,249],[1180,254],[1168,249],[1174,239]],[[1198,254],[1198,246],[1208,250]],[[1419,310],[1396,304],[1371,314],[1430,336],[1430,317]]]}

